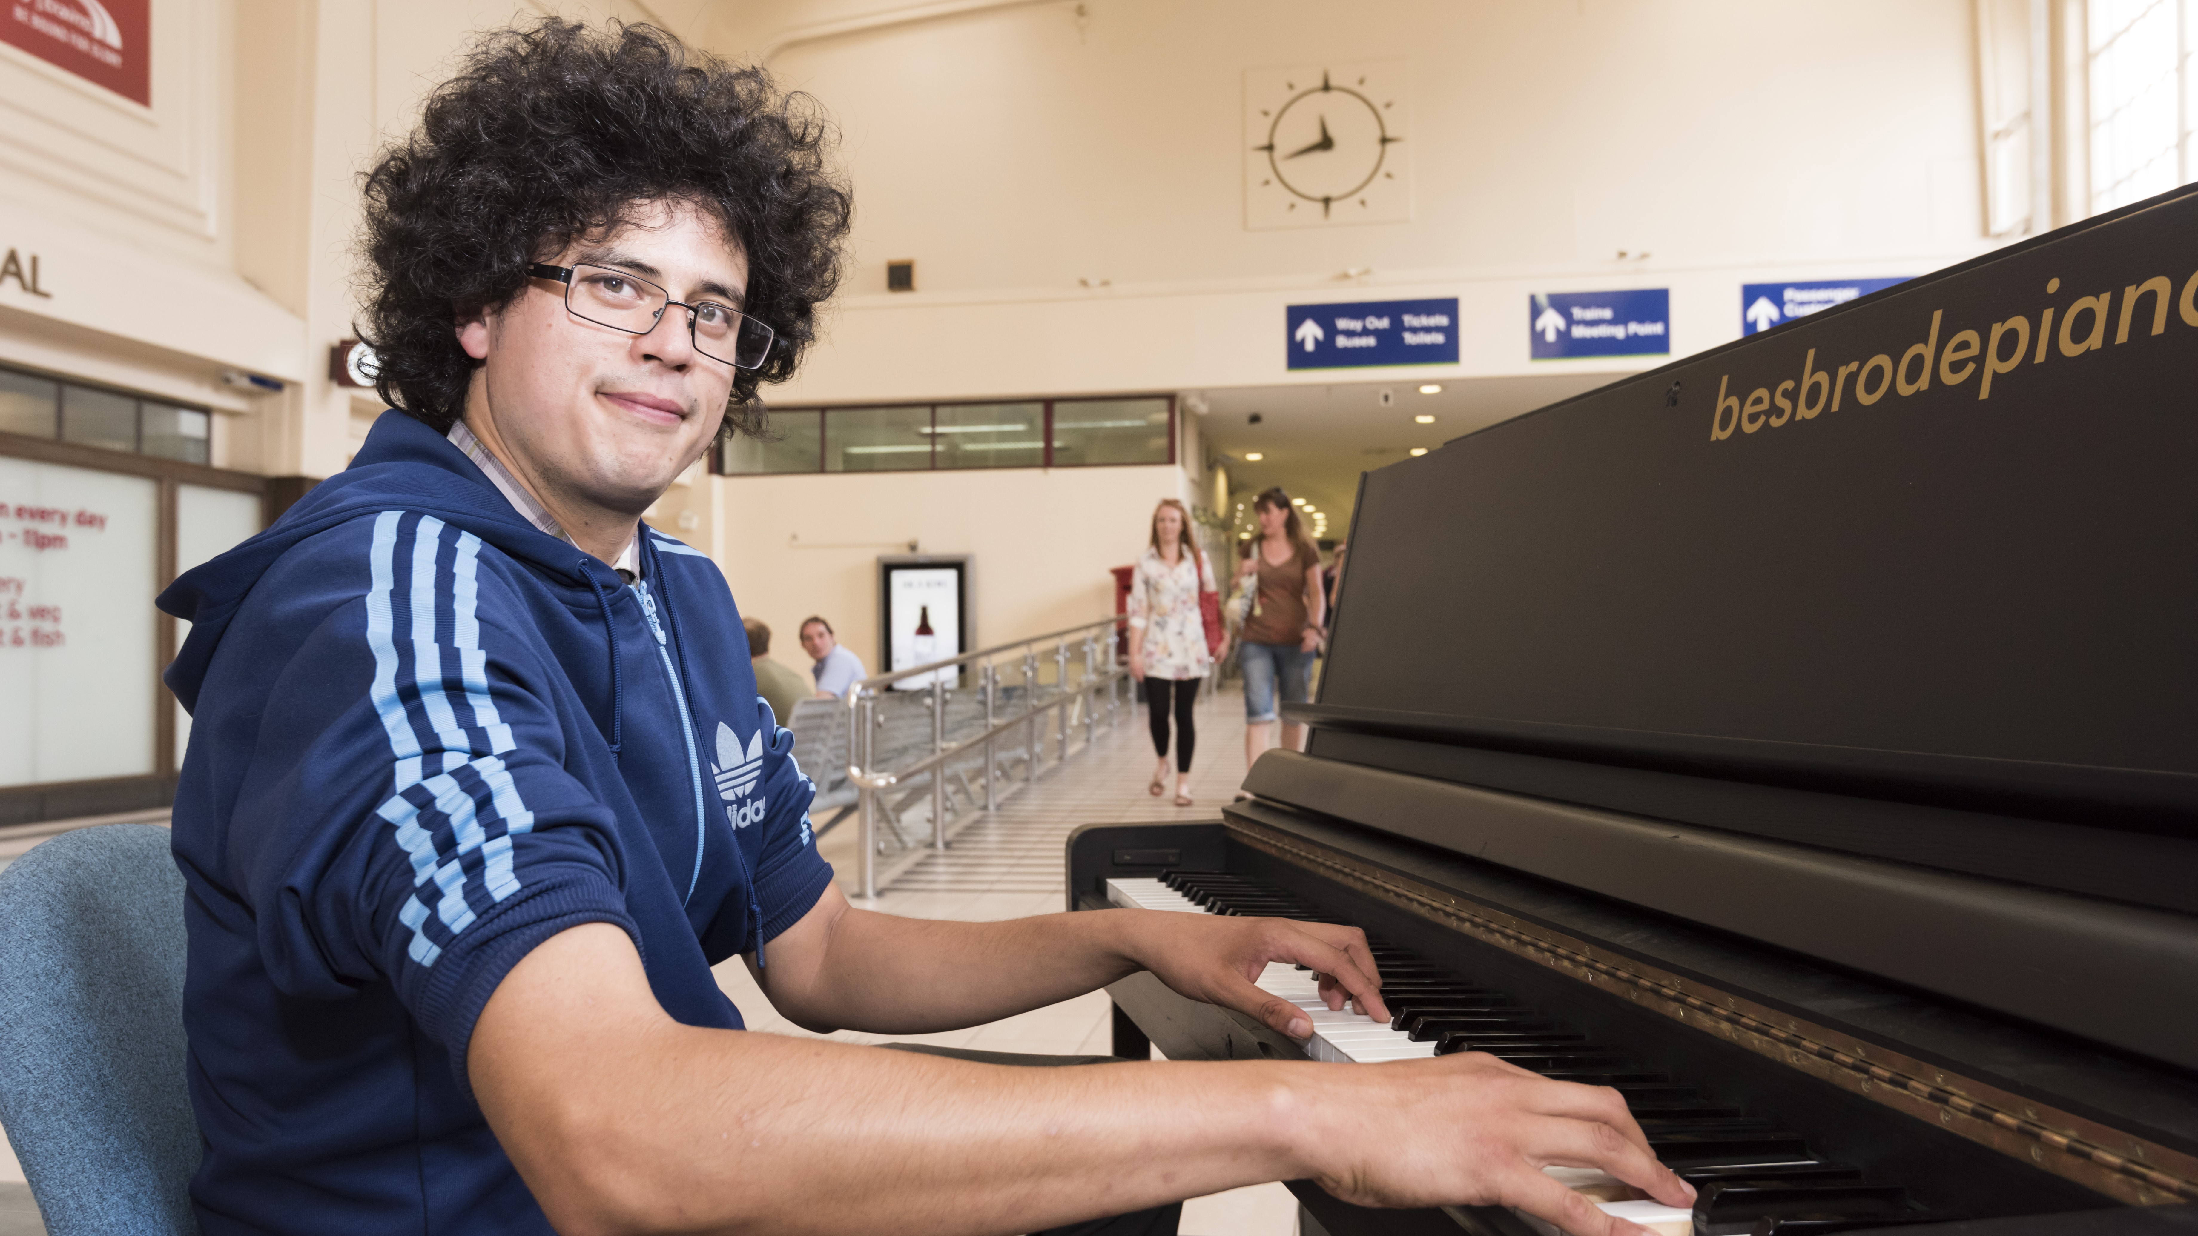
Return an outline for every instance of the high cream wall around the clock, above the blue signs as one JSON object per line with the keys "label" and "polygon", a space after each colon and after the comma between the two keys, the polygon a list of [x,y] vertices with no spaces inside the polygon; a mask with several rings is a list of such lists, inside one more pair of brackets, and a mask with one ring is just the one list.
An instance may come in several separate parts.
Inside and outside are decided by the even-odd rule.
{"label": "high cream wall around the clock, above the blue signs", "polygon": [[[1284,369],[1281,308],[1308,299],[1459,295],[1468,345],[1435,376],[1479,376],[1530,369],[1525,293],[1670,286],[1684,354],[1736,336],[1741,282],[1985,246],[1967,0],[717,15],[717,46],[780,48],[831,108],[855,183],[848,288],[787,402],[1330,380]],[[1389,57],[1413,220],[1248,231],[1244,70]],[[888,257],[919,293],[884,293]]]}

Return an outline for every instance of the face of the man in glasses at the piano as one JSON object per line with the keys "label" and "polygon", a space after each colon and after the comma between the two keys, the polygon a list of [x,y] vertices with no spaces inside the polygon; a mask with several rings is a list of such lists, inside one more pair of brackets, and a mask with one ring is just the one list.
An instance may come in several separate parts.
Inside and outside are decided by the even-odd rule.
{"label": "face of the man in glasses at the piano", "polygon": [[[642,202],[631,218],[547,262],[629,271],[675,301],[741,308],[747,255],[712,216]],[[468,427],[560,521],[640,517],[701,457],[732,394],[732,365],[695,352],[686,308],[626,334],[571,314],[554,279],[530,279],[503,310],[459,321],[457,339],[484,361]]]}

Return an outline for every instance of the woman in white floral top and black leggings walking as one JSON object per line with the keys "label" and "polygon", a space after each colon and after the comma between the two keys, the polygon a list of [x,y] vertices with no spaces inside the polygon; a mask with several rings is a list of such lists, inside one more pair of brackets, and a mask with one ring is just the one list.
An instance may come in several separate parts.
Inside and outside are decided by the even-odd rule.
{"label": "woman in white floral top and black leggings walking", "polygon": [[1207,649],[1200,592],[1215,592],[1213,567],[1191,537],[1191,512],[1163,497],[1152,512],[1152,543],[1139,554],[1130,578],[1130,677],[1145,684],[1145,704],[1152,708],[1158,765],[1147,792],[1154,796],[1167,790],[1167,719],[1174,715],[1178,807],[1191,805],[1191,752],[1198,746],[1191,704],[1198,699],[1198,682],[1213,673],[1213,658],[1229,647],[1224,638],[1220,653]]}

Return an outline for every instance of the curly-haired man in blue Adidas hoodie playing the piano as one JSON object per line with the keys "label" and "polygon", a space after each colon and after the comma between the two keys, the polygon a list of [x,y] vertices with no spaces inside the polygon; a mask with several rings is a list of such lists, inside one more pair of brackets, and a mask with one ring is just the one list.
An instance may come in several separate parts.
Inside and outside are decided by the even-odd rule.
{"label": "curly-haired man in blue Adidas hoodie playing the piano", "polygon": [[[495,35],[367,178],[385,413],[160,605],[193,622],[174,847],[209,1236],[1033,1232],[1253,1181],[1622,1223],[1539,1168],[1688,1190],[1607,1089],[1486,1056],[1020,1069],[923,1034],[1139,968],[1308,1034],[1352,928],[851,908],[723,576],[640,526],[793,372],[848,198],[824,125],[644,26]],[[1172,1229],[1165,1210],[1156,1227]],[[1154,1225],[1147,1225],[1152,1229]]]}

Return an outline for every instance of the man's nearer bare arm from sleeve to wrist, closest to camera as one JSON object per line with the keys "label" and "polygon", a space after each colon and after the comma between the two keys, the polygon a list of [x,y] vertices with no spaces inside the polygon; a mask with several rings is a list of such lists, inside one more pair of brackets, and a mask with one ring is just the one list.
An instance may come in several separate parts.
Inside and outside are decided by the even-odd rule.
{"label": "man's nearer bare arm from sleeve to wrist, closest to camera", "polygon": [[[593,994],[607,972],[640,998]],[[607,926],[514,979],[473,1084],[560,1232],[1031,1232],[1308,1170],[1281,1064],[1004,1069],[686,1027]],[[569,1062],[539,1058],[543,1025]]]}

